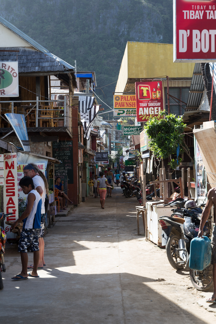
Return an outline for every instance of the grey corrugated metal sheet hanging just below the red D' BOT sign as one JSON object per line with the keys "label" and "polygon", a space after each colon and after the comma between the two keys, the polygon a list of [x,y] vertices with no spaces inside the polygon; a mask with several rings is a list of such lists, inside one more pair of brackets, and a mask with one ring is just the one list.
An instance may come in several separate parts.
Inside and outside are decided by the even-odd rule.
{"label": "grey corrugated metal sheet hanging just below the red D' BOT sign", "polygon": [[[203,83],[202,75],[196,75],[196,73],[201,73],[200,63],[195,63],[189,91],[204,91],[204,83]],[[187,111],[190,110],[190,107],[198,108],[202,95],[203,95],[202,93],[189,92],[186,110]]]}

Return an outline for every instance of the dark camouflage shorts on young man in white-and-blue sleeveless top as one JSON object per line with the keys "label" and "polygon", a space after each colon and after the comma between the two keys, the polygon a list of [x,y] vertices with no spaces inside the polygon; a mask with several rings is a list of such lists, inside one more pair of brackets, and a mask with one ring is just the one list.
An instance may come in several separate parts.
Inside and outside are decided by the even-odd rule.
{"label": "dark camouflage shorts on young man in white-and-blue sleeveless top", "polygon": [[18,252],[27,253],[27,249],[29,248],[30,252],[39,251],[38,247],[38,234],[40,232],[40,228],[33,229],[23,229],[18,245]]}

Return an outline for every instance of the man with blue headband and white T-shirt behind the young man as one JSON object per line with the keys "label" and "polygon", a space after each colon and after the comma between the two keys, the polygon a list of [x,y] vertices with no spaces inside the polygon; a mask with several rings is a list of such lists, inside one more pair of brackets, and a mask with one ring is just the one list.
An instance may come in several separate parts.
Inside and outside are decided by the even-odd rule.
{"label": "man with blue headband and white T-shirt behind the young man", "polygon": [[[30,177],[33,180],[35,190],[40,194],[42,203],[41,203],[41,230],[39,234],[39,250],[40,250],[40,260],[38,264],[38,268],[43,269],[45,266],[44,261],[44,222],[45,222],[45,198],[46,194],[49,194],[48,183],[45,175],[40,171],[38,166],[34,163],[29,163],[23,168],[24,177]],[[31,264],[28,266],[28,269],[33,269],[34,265]]]}

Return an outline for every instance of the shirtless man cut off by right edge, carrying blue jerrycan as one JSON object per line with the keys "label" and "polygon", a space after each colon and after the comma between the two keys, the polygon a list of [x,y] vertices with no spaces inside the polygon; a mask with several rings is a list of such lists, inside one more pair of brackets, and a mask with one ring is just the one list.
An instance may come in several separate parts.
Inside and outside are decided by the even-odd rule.
{"label": "shirtless man cut off by right edge, carrying blue jerrycan", "polygon": [[[216,187],[211,188],[208,192],[208,201],[206,203],[205,208],[202,212],[202,217],[199,226],[198,237],[203,236],[203,227],[209,218],[209,213],[211,211],[211,207],[216,206]],[[212,237],[211,237],[211,248],[212,248],[212,263],[213,263],[213,283],[214,283],[214,293],[211,298],[207,299],[207,303],[215,303],[216,304],[216,227],[214,226]]]}

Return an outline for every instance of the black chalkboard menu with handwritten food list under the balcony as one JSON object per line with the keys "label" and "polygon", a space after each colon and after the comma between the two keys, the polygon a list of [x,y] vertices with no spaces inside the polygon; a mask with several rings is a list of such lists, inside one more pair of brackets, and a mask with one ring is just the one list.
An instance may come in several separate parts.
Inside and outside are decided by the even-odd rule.
{"label": "black chalkboard menu with handwritten food list under the balcony", "polygon": [[73,142],[61,141],[52,143],[52,157],[61,161],[55,165],[55,178],[67,176],[68,183],[74,183]]}

